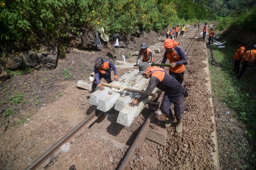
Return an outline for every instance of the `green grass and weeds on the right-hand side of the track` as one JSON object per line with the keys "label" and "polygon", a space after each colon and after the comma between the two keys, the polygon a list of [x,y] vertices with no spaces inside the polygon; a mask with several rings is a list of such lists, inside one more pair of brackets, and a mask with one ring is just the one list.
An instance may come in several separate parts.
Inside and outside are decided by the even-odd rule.
{"label": "green grass and weeds on the right-hand side of the track", "polygon": [[[247,125],[247,135],[253,143],[253,153],[249,156],[250,166],[248,169],[256,167],[256,94],[253,88],[253,79],[243,75],[242,79],[235,80],[233,73],[233,55],[236,52],[234,47],[217,48],[214,50],[215,65],[210,66],[212,94],[223,105],[238,113],[238,118]],[[246,71],[249,71],[247,68]],[[254,80],[255,81],[255,80]]]}

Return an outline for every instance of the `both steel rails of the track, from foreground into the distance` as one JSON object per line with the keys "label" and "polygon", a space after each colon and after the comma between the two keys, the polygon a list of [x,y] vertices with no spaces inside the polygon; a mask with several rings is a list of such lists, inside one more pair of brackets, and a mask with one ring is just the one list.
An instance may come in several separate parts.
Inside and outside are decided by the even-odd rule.
{"label": "both steel rails of the track, from foreground into the distance", "polygon": [[[200,29],[198,29],[198,31],[199,30]],[[196,31],[195,35],[198,34],[198,31]],[[191,33],[189,33],[189,34],[191,34]],[[179,42],[184,40],[184,38],[187,37],[189,34],[186,34],[186,36],[184,36]],[[192,41],[194,40],[195,35],[192,38],[191,42],[189,43],[188,47],[186,48],[186,52],[188,51],[190,45],[192,44]],[[162,58],[163,58],[163,56],[158,57],[156,59],[156,62],[159,62],[160,59],[162,59]],[[160,96],[157,99],[157,102],[162,101],[163,94],[164,93],[160,94]],[[62,137],[58,142],[56,142],[52,147],[50,147],[43,155],[41,155],[32,164],[30,164],[29,167],[27,167],[25,170],[35,170],[35,169],[38,169],[39,167],[47,166],[56,156],[58,156],[59,153],[61,153],[59,147],[62,144],[68,142],[71,138],[78,135],[79,131],[82,128],[89,127],[90,125],[92,125],[99,118],[99,116],[102,115],[102,113],[104,113],[104,112],[99,111],[99,110],[94,110],[92,113],[90,113],[90,115],[87,116],[86,119],[84,119],[79,125],[74,127],[69,133],[67,133],[67,135]],[[131,145],[128,153],[125,155],[125,158],[123,159],[122,164],[119,166],[118,170],[125,170],[126,166],[128,165],[128,162],[133,159],[135,150],[143,145],[143,143],[146,139],[146,136],[148,135],[148,132],[150,130],[149,125],[150,125],[150,123],[154,122],[154,119],[156,118],[156,116],[157,116],[156,111],[151,111],[151,113],[149,114],[145,123],[143,124],[143,127],[141,128],[140,132],[138,133],[136,139],[134,140],[134,143]]]}

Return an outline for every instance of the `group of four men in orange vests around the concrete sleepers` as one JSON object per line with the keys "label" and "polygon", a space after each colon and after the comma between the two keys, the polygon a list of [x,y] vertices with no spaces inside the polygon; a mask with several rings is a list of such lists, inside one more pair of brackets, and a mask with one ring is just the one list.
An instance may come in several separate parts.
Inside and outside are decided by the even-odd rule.
{"label": "group of four men in orange vests around the concrete sleepers", "polygon": [[[169,118],[168,121],[166,121],[165,126],[169,127],[176,118],[176,133],[182,132],[184,95],[186,93],[186,88],[183,87],[182,83],[185,70],[184,65],[187,63],[187,58],[185,51],[178,47],[179,44],[179,42],[172,39],[166,39],[164,42],[166,52],[164,53],[161,63],[165,63],[166,60],[169,59],[169,74],[163,70],[163,67],[159,68],[157,66],[151,66],[151,64],[154,63],[152,50],[148,48],[145,42],[140,45],[136,68],[139,69],[138,74],[142,74],[146,79],[150,78],[150,81],[144,94],[138,99],[134,99],[130,104],[131,107],[134,107],[139,102],[142,102],[156,87],[162,90],[165,93],[160,109],[167,118]],[[143,58],[142,63],[140,63],[140,58]],[[100,82],[102,78],[108,83],[112,82],[111,69],[113,69],[114,72],[114,79],[119,81],[115,65],[108,60],[103,60],[101,57],[96,59],[94,66],[95,79],[92,85],[92,92],[95,91],[97,85],[99,86],[99,90],[104,90],[104,86]],[[174,104],[174,115],[170,109],[172,103]]]}

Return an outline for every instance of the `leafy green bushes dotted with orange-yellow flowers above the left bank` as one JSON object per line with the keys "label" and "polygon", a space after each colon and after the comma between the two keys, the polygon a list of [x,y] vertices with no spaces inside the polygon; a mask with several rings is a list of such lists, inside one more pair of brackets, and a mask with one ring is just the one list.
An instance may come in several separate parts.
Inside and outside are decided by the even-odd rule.
{"label": "leafy green bushes dotted with orange-yellow flowers above the left bank", "polygon": [[[160,31],[177,18],[172,0],[22,0],[0,6],[0,41],[36,46],[36,36],[47,39],[79,35],[81,26],[107,32]],[[127,17],[129,16],[129,17]],[[124,23],[129,23],[124,26]]]}

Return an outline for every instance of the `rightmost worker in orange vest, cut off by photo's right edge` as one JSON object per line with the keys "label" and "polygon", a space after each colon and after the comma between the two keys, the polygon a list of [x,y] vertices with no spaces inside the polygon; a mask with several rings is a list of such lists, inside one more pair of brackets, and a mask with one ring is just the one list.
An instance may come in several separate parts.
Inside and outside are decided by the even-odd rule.
{"label": "rightmost worker in orange vest, cut off by photo's right edge", "polygon": [[256,59],[256,45],[253,45],[253,49],[247,50],[244,56],[241,59],[241,63],[243,64],[241,71],[239,72],[238,77],[236,79],[240,79],[241,76],[244,74],[244,71],[249,66],[253,66]]}

